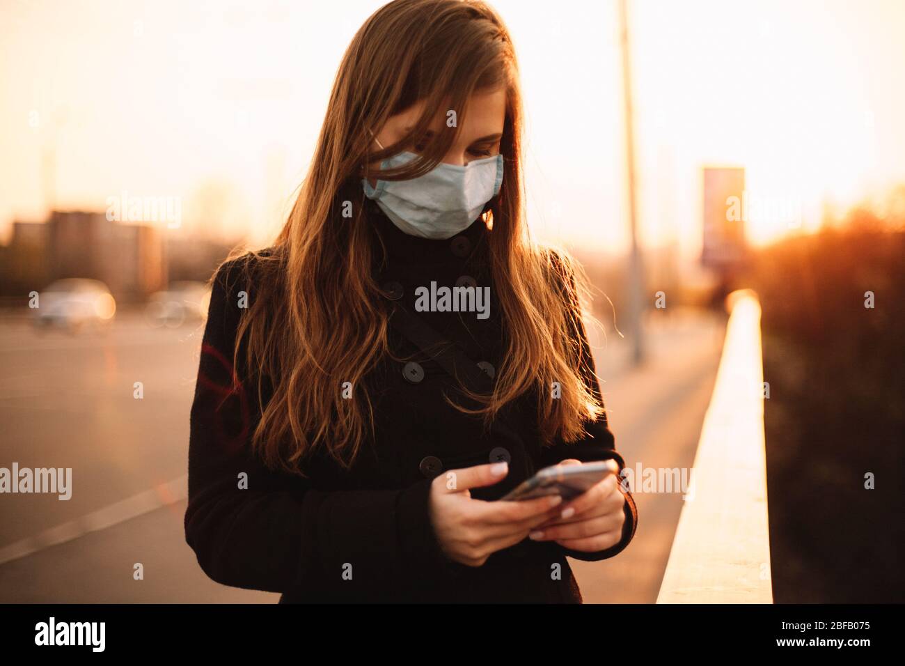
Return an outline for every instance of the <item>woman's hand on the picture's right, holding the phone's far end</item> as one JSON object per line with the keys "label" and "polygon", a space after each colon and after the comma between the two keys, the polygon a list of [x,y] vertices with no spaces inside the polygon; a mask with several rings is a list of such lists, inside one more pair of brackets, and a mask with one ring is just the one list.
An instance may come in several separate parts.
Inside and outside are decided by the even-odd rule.
{"label": "woman's hand on the picture's right, holding the phone's far end", "polygon": [[[538,526],[529,535],[535,541],[556,541],[571,550],[594,553],[619,543],[625,522],[625,496],[619,488],[618,467],[609,460],[614,474],[564,504],[555,520]],[[581,465],[569,458],[560,465]]]}

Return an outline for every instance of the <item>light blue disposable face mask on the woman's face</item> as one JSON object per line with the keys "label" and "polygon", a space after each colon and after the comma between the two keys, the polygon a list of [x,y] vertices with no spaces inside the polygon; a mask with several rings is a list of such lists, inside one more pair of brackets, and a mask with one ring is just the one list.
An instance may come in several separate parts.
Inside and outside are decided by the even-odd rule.
{"label": "light blue disposable face mask on the woman's face", "polygon": [[[417,157],[403,151],[384,159],[380,168],[399,167]],[[424,238],[452,238],[471,227],[500,192],[502,181],[502,155],[475,159],[464,167],[440,163],[418,178],[377,180],[376,188],[362,179],[365,196],[375,199],[396,227]]]}

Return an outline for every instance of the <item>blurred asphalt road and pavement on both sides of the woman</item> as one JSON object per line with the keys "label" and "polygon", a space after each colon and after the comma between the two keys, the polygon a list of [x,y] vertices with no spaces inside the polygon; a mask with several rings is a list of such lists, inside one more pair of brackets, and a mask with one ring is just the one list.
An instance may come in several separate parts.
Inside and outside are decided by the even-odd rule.
{"label": "blurred asphalt road and pavement on both sides of the woman", "polygon": [[[119,317],[107,333],[37,335],[0,320],[0,467],[72,468],[73,493],[0,496],[0,602],[275,602],[215,584],[182,531],[188,415],[202,330]],[[689,467],[719,362],[721,324],[670,313],[648,327],[649,359],[595,341],[598,375],[630,466]],[[135,382],[143,398],[134,397]],[[656,599],[681,495],[635,495],[622,555],[576,562],[586,602]],[[133,576],[143,567],[143,579]]]}

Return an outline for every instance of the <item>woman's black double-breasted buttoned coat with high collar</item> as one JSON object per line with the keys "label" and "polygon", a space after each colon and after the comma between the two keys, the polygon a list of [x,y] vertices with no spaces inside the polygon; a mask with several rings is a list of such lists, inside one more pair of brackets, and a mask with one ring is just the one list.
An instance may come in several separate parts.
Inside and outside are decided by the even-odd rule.
{"label": "woman's black double-breasted buttoned coat with high collar", "polygon": [[[370,202],[367,210],[375,246],[386,248],[379,279],[396,290],[401,286],[401,302],[410,310],[414,287],[432,280],[452,286],[470,275],[479,286],[490,284],[485,250],[491,232],[481,219],[450,240],[429,240],[400,231]],[[255,260],[245,256],[228,262],[215,275],[191,412],[186,541],[205,573],[222,584],[283,593],[281,603],[580,602],[566,555],[602,560],[622,551],[637,525],[631,496],[626,497],[623,538],[612,548],[583,553],[526,539],[471,567],[448,560],[440,550],[428,494],[432,478],[444,469],[500,456],[510,460],[508,477],[497,486],[472,490],[472,497],[500,497],[537,469],[565,458],[614,458],[622,468],[605,418],[587,424],[586,439],[542,448],[533,397],[526,394],[507,410],[510,436],[488,433],[477,417],[443,401],[443,391],[456,394],[452,377],[391,329],[395,354],[414,359],[421,372],[405,378],[404,363],[386,358],[371,373],[367,383],[376,438],[353,468],[343,471],[319,455],[306,463],[308,478],[271,471],[250,447],[261,414],[256,387],[240,368],[241,390],[227,388],[241,312],[238,292],[250,299],[255,294],[254,265],[251,283],[242,279],[240,264],[249,261]],[[462,345],[474,361],[497,367],[501,336],[494,306],[491,300],[486,320],[473,313],[418,316]],[[586,347],[584,328],[579,329]],[[599,394],[593,374],[588,381]],[[262,401],[269,399],[265,386]],[[242,473],[248,479],[245,489],[239,483]]]}

